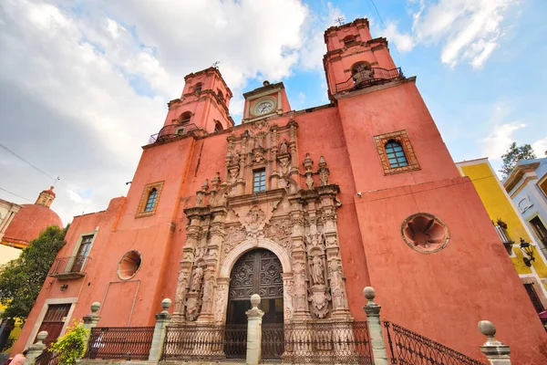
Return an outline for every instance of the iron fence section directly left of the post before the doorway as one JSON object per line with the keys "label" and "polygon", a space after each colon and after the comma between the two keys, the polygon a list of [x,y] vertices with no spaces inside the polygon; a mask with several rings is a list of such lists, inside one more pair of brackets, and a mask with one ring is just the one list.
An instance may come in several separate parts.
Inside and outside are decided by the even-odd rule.
{"label": "iron fence section directly left of the post before the doorway", "polygon": [[247,325],[168,327],[161,360],[234,360],[247,354]]}

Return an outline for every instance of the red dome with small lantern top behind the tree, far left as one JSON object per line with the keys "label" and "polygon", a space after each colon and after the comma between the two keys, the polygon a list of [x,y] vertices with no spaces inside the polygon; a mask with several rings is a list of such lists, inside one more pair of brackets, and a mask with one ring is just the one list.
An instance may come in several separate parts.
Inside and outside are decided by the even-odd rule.
{"label": "red dome with small lantern top behind the tree, far left", "polygon": [[57,227],[63,228],[61,218],[49,209],[53,199],[55,199],[55,193],[53,193],[53,187],[51,187],[49,190],[40,193],[36,203],[21,204],[22,208],[15,214],[5,230],[2,243],[23,248],[30,241],[37,238],[40,232],[48,226],[57,225]]}

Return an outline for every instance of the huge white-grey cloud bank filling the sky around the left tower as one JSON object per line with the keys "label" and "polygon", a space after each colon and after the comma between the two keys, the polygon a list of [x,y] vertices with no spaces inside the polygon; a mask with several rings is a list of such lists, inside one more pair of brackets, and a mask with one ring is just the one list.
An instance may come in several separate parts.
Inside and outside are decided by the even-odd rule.
{"label": "huge white-grey cloud bank filling the sky around the left tower", "polygon": [[[309,13],[298,0],[51,1],[0,3],[0,123],[9,147],[61,176],[52,207],[65,224],[126,193],[186,74],[220,60],[232,114],[249,78],[290,75]],[[4,158],[6,190],[34,202],[51,184]]]}

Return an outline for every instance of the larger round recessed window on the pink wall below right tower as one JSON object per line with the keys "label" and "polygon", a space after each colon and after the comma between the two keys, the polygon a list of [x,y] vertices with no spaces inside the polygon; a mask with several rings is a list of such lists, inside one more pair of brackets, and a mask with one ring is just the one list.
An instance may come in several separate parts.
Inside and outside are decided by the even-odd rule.
{"label": "larger round recessed window on the pink wall below right tower", "polygon": [[424,254],[442,250],[449,243],[449,228],[438,217],[428,213],[410,215],[401,225],[403,239]]}

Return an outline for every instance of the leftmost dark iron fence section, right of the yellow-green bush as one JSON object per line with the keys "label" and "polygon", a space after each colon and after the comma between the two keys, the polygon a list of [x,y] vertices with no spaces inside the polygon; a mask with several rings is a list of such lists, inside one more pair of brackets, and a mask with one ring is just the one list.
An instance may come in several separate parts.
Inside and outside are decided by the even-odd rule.
{"label": "leftmost dark iron fence section, right of the yellow-green bush", "polygon": [[91,328],[86,359],[148,360],[153,327]]}

